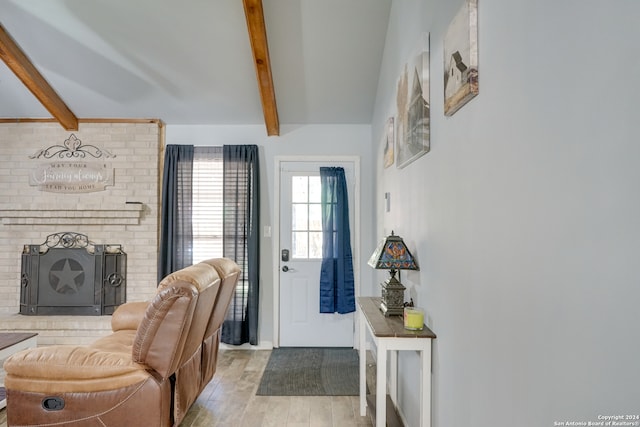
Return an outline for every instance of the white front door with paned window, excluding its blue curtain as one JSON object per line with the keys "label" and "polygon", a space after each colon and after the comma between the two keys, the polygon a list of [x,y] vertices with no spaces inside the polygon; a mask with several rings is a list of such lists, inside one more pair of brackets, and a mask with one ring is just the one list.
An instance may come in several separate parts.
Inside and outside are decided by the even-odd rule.
{"label": "white front door with paned window, excluding its blue curtain", "polygon": [[320,166],[345,169],[353,245],[353,163],[281,163],[280,251],[277,254],[281,347],[353,347],[354,343],[354,313],[320,313]]}

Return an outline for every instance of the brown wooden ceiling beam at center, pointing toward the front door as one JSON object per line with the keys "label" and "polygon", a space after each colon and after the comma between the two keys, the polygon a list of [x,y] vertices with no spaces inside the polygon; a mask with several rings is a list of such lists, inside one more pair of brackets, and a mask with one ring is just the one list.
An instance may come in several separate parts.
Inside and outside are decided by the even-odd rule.
{"label": "brown wooden ceiling beam at center, pointing toward the front door", "polygon": [[262,111],[267,126],[267,135],[280,134],[280,122],[278,120],[278,108],[276,106],[276,94],[271,75],[271,63],[269,60],[269,46],[267,44],[267,29],[264,24],[264,11],[262,0],[243,0],[244,14],[247,18],[251,50],[256,67],[256,77],[260,98],[262,99]]}

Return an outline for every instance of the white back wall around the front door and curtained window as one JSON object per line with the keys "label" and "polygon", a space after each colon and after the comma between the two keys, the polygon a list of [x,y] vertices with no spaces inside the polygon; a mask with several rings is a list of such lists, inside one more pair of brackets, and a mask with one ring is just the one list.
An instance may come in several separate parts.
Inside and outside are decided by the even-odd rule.
{"label": "white back wall around the front door and curtained window", "polygon": [[[371,283],[372,270],[366,265],[368,248],[375,245],[371,236],[373,216],[373,153],[371,149],[371,127],[369,125],[282,125],[280,136],[268,137],[264,126],[188,126],[169,125],[166,129],[167,144],[193,144],[198,146],[224,144],[256,144],[260,147],[261,206],[260,230],[273,226],[274,218],[274,162],[276,156],[359,156],[361,167],[362,216],[361,243],[365,254],[360,257],[359,267],[364,284]],[[275,238],[275,237],[274,237]],[[262,237],[260,241],[260,327],[259,340],[262,347],[273,343],[273,238]],[[275,266],[277,268],[277,265]],[[364,286],[365,294],[369,287]]]}

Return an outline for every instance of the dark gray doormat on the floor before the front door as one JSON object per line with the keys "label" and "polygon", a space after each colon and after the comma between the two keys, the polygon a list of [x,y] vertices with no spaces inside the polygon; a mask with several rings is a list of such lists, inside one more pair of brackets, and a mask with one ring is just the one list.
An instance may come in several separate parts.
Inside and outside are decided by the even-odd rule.
{"label": "dark gray doormat on the floor before the front door", "polygon": [[357,396],[358,352],[352,348],[274,348],[258,396]]}

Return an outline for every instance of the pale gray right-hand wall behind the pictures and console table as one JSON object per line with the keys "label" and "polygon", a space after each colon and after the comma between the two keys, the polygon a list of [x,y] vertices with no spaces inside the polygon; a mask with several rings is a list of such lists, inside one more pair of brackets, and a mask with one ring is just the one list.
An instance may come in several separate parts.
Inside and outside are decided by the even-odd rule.
{"label": "pale gray right-hand wall behind the pictures and console table", "polygon": [[[480,94],[446,118],[461,4],[393,2],[372,124],[380,158],[400,67],[429,32],[431,152],[377,166],[374,203],[376,234],[420,260],[402,277],[438,335],[434,426],[639,414],[640,2],[479,0]],[[417,425],[417,355],[400,364]]]}

